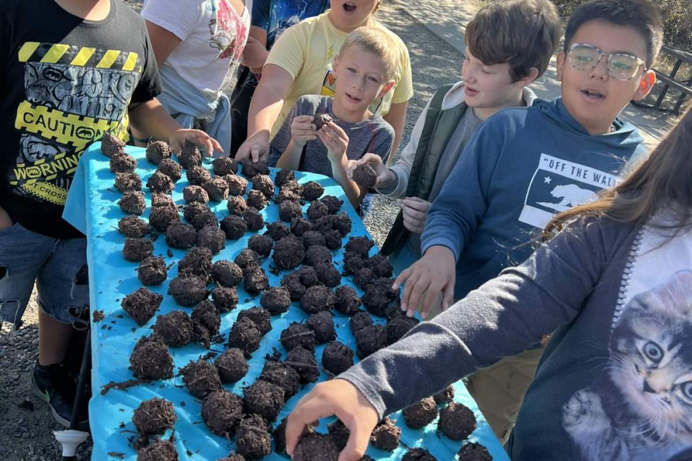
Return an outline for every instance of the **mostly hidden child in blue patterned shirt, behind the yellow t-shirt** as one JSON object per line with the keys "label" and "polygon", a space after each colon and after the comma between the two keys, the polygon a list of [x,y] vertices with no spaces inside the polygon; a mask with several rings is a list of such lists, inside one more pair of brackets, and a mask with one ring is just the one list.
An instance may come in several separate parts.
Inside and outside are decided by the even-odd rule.
{"label": "mostly hidden child in blue patterned shirt, behind the yellow t-shirt", "polygon": [[321,15],[329,0],[253,0],[250,36],[243,49],[243,66],[230,95],[233,137],[230,152],[237,152],[248,135],[248,112],[255,88],[262,77],[262,67],[275,41],[287,28],[309,17]]}

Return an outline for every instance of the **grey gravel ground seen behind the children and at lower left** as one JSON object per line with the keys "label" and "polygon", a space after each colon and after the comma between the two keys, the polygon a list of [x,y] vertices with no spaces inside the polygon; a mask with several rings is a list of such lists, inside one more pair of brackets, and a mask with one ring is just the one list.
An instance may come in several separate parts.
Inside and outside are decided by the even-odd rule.
{"label": "grey gravel ground seen behind the children and at lower left", "polygon": [[[140,2],[125,0],[138,9]],[[426,102],[443,84],[458,79],[462,56],[446,42],[437,38],[406,10],[383,3],[378,13],[390,30],[406,43],[411,57],[415,95],[410,100],[403,140],[408,140],[415,121]],[[399,211],[397,200],[376,196],[365,225],[381,244]],[[60,446],[53,438],[53,430],[62,427],[53,421],[48,408],[29,391],[28,377],[37,357],[37,304],[33,297],[24,314],[24,326],[10,334],[9,326],[0,330],[0,411],[5,414],[0,422],[0,459],[5,461],[60,460]],[[91,441],[78,451],[78,460],[88,460]],[[100,460],[98,460],[100,461]]]}

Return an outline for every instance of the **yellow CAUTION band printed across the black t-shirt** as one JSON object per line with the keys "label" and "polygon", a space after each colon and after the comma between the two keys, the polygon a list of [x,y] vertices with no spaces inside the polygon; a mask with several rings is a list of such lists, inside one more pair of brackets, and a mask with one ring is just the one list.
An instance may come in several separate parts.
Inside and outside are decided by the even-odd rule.
{"label": "yellow CAUTION band printed across the black t-shirt", "polygon": [[84,117],[66,113],[46,106],[22,101],[17,108],[15,128],[41,135],[63,145],[72,145],[78,150],[98,139],[104,131],[121,132],[127,127],[127,117],[122,122]]}

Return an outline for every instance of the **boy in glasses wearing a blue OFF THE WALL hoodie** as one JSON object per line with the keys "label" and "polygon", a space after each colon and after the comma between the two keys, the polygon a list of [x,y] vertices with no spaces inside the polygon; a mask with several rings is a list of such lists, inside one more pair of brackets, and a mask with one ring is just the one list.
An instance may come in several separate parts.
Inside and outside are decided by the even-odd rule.
{"label": "boy in glasses wearing a blue OFF THE WALL hoodie", "polygon": [[[525,261],[531,236],[558,211],[619,182],[644,148],[637,129],[617,115],[655,83],[649,69],[661,42],[660,15],[645,0],[593,0],[570,17],[557,63],[561,97],[505,109],[476,131],[428,211],[424,256],[394,283],[406,282],[402,310],[412,315],[420,303],[426,317],[440,292],[446,309]],[[526,391],[509,377],[538,364],[535,350],[525,354],[531,357],[509,357],[468,380],[486,417],[506,421],[504,435]]]}

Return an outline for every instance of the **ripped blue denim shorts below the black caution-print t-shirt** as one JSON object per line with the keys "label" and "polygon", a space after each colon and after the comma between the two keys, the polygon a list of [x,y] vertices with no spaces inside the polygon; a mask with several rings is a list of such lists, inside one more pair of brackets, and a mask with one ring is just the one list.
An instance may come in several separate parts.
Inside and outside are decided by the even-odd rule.
{"label": "ripped blue denim shorts below the black caution-print t-shirt", "polygon": [[75,323],[89,308],[86,238],[51,238],[19,223],[1,229],[0,322],[21,324],[34,283],[49,317]]}

